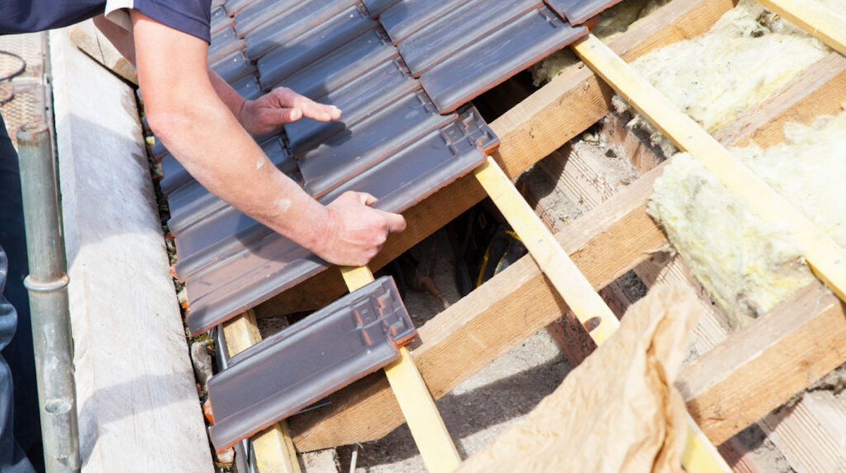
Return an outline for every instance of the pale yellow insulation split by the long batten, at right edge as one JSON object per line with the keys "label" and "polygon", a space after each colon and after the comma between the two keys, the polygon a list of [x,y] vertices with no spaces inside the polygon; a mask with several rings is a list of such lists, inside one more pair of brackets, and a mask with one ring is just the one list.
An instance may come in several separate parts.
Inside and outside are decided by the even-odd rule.
{"label": "pale yellow insulation split by the long batten, at right edge", "polygon": [[[782,144],[734,156],[846,246],[846,113],[788,124]],[[738,327],[813,280],[791,228],[763,222],[693,157],[679,153],[656,180],[647,212]]]}

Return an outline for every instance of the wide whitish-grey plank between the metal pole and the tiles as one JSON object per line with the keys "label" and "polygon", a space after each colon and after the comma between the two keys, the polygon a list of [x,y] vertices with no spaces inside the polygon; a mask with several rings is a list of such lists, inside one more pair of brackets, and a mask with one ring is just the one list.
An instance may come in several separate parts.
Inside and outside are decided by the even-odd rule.
{"label": "wide whitish-grey plank between the metal pole and the tiles", "polygon": [[49,33],[86,473],[211,473],[135,94]]}

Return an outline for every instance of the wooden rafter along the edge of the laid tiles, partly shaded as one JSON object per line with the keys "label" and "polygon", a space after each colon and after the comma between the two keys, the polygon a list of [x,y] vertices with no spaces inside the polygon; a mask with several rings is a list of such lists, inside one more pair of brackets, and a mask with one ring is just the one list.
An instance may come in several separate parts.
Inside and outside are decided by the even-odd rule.
{"label": "wooden rafter along the edge of the laid tiles, partly shaded", "polygon": [[[638,22],[611,43],[627,60],[658,47],[698,36],[733,8],[734,0],[673,0]],[[574,65],[518,106],[497,118],[491,128],[502,145],[493,157],[510,179],[563,146],[610,112],[613,91],[583,65]],[[402,234],[392,234],[371,269],[379,269],[421,239],[485,198],[472,176],[459,179],[404,212]],[[346,292],[340,273],[322,272],[288,289],[256,309],[258,316],[312,311]]]}

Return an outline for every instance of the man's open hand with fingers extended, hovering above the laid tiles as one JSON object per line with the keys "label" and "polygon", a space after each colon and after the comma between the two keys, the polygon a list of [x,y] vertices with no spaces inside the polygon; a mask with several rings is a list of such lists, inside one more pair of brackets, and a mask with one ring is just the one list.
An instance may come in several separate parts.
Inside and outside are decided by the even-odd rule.
{"label": "man's open hand with fingers extended, hovering above the laid tiles", "polygon": [[314,102],[287,87],[277,87],[255,100],[244,101],[238,112],[238,121],[250,135],[265,135],[303,117],[328,122],[341,118],[341,110]]}

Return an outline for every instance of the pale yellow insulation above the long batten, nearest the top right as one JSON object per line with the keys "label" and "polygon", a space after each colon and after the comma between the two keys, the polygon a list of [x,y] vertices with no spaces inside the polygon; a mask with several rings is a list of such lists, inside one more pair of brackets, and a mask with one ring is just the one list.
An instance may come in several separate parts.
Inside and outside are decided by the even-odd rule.
{"label": "pale yellow insulation above the long batten, nearest the top right", "polygon": [[[846,7],[846,0],[840,2]],[[741,0],[711,30],[630,65],[713,133],[823,58],[821,41],[754,0]]]}

